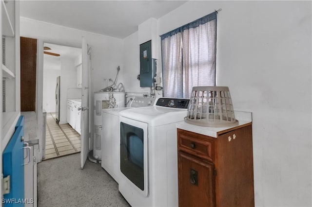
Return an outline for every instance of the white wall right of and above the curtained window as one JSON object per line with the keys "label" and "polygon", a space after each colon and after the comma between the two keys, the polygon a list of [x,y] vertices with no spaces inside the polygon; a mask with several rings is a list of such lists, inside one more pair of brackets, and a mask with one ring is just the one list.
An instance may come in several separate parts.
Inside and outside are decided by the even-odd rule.
{"label": "white wall right of and above the curtained window", "polygon": [[[253,112],[256,206],[312,206],[311,1],[189,1],[158,35],[217,15],[217,83]],[[158,64],[159,65],[159,64]]]}

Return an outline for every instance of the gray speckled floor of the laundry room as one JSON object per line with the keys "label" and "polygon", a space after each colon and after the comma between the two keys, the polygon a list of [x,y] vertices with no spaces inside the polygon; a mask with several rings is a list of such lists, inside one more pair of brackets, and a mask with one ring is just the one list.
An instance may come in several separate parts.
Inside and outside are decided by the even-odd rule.
{"label": "gray speckled floor of the laundry room", "polygon": [[38,206],[130,207],[100,164],[87,160],[80,169],[80,153],[38,164]]}

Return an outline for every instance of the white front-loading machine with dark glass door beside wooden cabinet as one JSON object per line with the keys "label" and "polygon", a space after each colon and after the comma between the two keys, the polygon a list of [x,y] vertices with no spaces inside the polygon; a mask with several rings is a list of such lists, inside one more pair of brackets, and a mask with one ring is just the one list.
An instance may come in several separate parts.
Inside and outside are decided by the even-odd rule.
{"label": "white front-loading machine with dark glass door beside wooden cabinet", "polygon": [[119,113],[118,190],[131,206],[178,206],[176,123],[188,103],[159,98],[154,106]]}

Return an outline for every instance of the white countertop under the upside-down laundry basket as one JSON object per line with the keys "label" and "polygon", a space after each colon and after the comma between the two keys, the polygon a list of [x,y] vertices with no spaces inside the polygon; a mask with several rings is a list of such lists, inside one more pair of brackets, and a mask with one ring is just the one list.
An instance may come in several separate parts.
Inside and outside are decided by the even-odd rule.
{"label": "white countertop under the upside-down laundry basket", "polygon": [[205,127],[198,126],[195,124],[186,123],[185,121],[178,122],[176,124],[176,128],[183,129],[186,131],[194,132],[197,134],[206,135],[209,137],[217,138],[219,134],[226,133],[227,131],[231,131],[230,129],[240,128],[242,125],[252,123],[252,112],[245,111],[234,111],[235,119],[238,120],[238,125],[236,126],[228,126],[228,127]]}

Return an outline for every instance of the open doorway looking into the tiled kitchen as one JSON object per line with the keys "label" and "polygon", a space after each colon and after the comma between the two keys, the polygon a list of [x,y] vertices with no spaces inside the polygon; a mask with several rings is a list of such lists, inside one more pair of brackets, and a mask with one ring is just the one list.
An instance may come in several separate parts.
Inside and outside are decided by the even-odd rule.
{"label": "open doorway looking into the tiled kitchen", "polygon": [[[46,160],[80,152],[80,131],[75,124],[68,123],[67,101],[81,100],[81,49],[51,43],[43,46],[42,107],[46,112],[43,160]],[[70,109],[76,122],[80,122],[74,109]]]}

